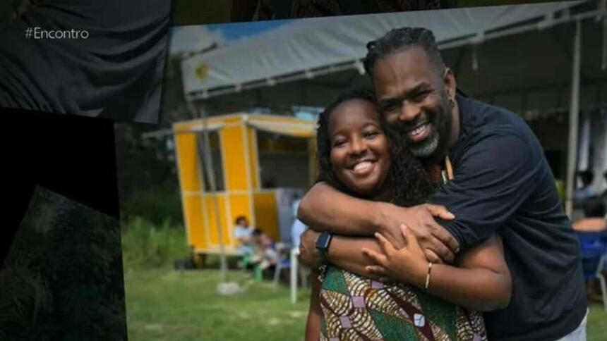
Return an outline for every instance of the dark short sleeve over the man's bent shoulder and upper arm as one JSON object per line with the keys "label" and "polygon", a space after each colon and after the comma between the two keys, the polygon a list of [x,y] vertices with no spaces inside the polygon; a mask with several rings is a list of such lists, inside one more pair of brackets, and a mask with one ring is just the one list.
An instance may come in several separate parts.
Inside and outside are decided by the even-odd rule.
{"label": "dark short sleeve over the man's bent shoulder and upper arm", "polygon": [[[462,250],[491,237],[536,187],[554,186],[539,143],[520,132],[495,130],[465,151],[458,162],[455,179],[441,187],[431,202],[457,216],[441,225],[457,238]],[[555,187],[542,189],[547,199],[551,191],[558,204]]]}

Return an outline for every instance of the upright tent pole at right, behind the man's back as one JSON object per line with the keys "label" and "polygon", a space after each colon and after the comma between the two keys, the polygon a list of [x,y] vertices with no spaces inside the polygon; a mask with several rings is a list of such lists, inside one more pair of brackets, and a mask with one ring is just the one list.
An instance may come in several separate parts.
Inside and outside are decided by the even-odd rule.
{"label": "upright tent pole at right, behind the man's back", "polygon": [[575,183],[575,166],[577,163],[577,120],[579,117],[579,71],[582,64],[582,22],[575,22],[573,39],[573,67],[571,75],[571,101],[569,111],[569,151],[567,156],[567,194],[565,212],[572,218],[573,185]]}

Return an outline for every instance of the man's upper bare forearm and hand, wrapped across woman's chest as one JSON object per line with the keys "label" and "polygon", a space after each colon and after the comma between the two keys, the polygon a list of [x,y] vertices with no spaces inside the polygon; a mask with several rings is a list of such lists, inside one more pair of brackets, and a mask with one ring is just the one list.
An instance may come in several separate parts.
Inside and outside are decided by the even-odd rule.
{"label": "man's upper bare forearm and hand, wrapped across woman's chest", "polygon": [[406,223],[428,259],[450,262],[459,245],[434,217],[444,220],[455,218],[444,206],[424,204],[405,208],[386,202],[371,202],[350,197],[325,182],[318,182],[306,193],[298,212],[299,220],[313,230],[359,236],[380,232],[400,247],[404,240],[399,226]]}

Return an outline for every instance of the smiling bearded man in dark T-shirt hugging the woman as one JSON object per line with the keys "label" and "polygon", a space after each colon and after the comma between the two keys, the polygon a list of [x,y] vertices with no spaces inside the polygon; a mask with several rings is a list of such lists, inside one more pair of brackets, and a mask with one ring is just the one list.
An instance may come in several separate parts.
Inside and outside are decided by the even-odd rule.
{"label": "smiling bearded man in dark T-shirt hugging the woman", "polygon": [[373,276],[380,274],[366,271],[369,260],[360,250],[378,249],[375,242],[344,234],[379,232],[403,244],[404,223],[428,261],[451,262],[499,233],[512,299],[505,309],[484,315],[489,340],[585,340],[579,242],[533,132],[514,113],[457,94],[431,31],[392,30],[367,48],[365,66],[382,118],[446,183],[431,204],[401,208],[355,199],[318,182],[303,197],[299,218],[311,230],[332,235],[304,233],[302,261],[315,265],[324,257]]}

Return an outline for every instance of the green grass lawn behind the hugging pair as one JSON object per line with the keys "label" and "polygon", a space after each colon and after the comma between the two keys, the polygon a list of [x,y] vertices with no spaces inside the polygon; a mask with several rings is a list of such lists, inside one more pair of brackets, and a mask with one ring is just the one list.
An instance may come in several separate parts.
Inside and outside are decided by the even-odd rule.
{"label": "green grass lawn behind the hugging pair", "polygon": [[[241,271],[228,280],[248,290],[217,294],[219,271],[174,271],[172,261],[188,256],[184,229],[136,219],[122,233],[128,337],[139,340],[301,340],[310,291],[299,290],[296,304],[289,287],[250,283]],[[234,259],[230,259],[234,263]],[[208,259],[218,266],[217,256]],[[605,340],[607,311],[591,302],[588,340]]]}

